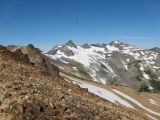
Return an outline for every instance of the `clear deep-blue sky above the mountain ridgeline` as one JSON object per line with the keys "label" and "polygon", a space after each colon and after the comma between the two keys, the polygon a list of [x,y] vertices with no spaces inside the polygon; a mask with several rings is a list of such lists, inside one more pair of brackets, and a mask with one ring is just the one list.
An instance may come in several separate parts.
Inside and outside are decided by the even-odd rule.
{"label": "clear deep-blue sky above the mountain ridgeline", "polygon": [[160,47],[160,0],[0,0],[0,44]]}

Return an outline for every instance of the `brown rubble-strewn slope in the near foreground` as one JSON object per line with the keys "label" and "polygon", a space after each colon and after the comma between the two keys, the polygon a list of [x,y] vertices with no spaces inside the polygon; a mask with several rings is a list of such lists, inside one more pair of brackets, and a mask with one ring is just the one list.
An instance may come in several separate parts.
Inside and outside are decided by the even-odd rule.
{"label": "brown rubble-strewn slope in the near foreground", "polygon": [[35,67],[22,52],[13,53],[1,46],[0,119],[145,120],[147,118]]}

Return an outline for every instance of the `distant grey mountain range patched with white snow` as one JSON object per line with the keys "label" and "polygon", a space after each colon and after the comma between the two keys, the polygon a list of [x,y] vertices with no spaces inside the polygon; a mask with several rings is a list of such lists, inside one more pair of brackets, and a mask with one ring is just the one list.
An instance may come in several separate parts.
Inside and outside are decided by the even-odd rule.
{"label": "distant grey mountain range patched with white snow", "polygon": [[[160,53],[113,41],[76,45],[71,40],[45,53],[61,71],[102,84],[155,90],[160,80]],[[147,89],[146,89],[146,88]]]}

